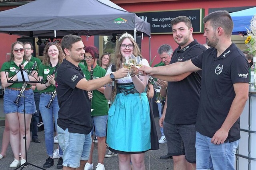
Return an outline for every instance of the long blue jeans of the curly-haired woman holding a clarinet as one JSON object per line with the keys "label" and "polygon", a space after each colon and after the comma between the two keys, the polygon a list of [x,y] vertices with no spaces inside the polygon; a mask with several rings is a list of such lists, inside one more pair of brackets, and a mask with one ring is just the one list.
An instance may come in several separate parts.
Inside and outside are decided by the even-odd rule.
{"label": "long blue jeans of the curly-haired woman holding a clarinet", "polygon": [[[58,119],[58,111],[60,109],[58,105],[57,95],[55,96],[50,109],[45,106],[49,103],[52,95],[42,93],[40,95],[40,104],[39,109],[44,122],[44,135],[45,135],[45,145],[46,151],[49,156],[53,156],[54,152],[54,124],[57,129],[57,119]],[[55,123],[54,123],[55,122]],[[60,157],[62,157],[62,149],[59,147]]]}

